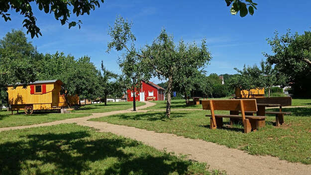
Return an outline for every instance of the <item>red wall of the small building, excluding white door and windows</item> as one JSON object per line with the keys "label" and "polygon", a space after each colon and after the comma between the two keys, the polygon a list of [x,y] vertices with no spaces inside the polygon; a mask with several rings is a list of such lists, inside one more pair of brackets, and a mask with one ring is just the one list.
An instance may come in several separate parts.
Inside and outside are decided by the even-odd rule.
{"label": "red wall of the small building, excluding white door and windows", "polygon": [[[153,90],[153,96],[155,97],[155,100],[158,100],[158,89],[156,87],[153,87],[149,84],[146,84],[145,82],[142,82],[142,88],[138,90],[136,90],[136,95],[135,95],[135,100],[139,101],[140,100],[140,95],[139,92],[144,92],[145,93],[145,101],[147,101],[147,97],[148,97],[148,91],[152,91]],[[159,89],[161,90],[161,89]],[[163,94],[159,94],[160,96],[160,100],[164,99],[164,95]],[[127,89],[127,101],[133,101],[133,97],[131,97],[131,91],[130,89]]]}

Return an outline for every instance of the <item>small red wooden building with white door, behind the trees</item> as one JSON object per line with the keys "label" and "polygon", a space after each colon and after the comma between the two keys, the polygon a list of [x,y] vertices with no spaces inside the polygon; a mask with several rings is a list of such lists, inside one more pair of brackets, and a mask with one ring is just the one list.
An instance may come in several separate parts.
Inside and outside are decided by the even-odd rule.
{"label": "small red wooden building with white door, behind the trees", "polygon": [[[164,100],[164,88],[160,87],[152,82],[142,82],[139,91],[136,91],[136,101],[147,100]],[[134,92],[127,89],[127,101],[133,101]]]}

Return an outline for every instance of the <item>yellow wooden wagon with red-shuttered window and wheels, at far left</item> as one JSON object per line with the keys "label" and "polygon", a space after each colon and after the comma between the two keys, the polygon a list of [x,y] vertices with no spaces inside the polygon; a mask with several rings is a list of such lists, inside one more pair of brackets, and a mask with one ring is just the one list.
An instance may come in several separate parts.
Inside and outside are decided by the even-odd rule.
{"label": "yellow wooden wagon with red-shuttered window and wheels, at far left", "polygon": [[23,88],[23,85],[7,87],[9,109],[24,110],[32,114],[34,110],[60,110],[60,80],[36,81]]}

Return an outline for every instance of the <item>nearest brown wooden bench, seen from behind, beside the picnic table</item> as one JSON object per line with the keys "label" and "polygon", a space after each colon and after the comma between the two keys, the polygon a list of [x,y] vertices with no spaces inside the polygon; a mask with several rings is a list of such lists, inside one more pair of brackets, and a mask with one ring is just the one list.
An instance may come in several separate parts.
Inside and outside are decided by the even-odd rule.
{"label": "nearest brown wooden bench, seen from behind, beside the picnic table", "polygon": [[[222,127],[222,118],[240,118],[244,125],[244,133],[256,131],[263,127],[265,116],[245,115],[245,111],[257,111],[255,99],[202,100],[204,110],[210,110],[210,129]],[[215,110],[241,111],[241,115],[216,115]]]}

